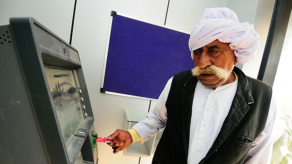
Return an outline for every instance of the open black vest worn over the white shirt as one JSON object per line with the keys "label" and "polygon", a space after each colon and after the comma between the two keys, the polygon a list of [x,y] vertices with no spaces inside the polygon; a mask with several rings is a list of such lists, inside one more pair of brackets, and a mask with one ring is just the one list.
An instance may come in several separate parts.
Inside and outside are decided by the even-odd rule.
{"label": "open black vest worn over the white shirt", "polygon": [[[252,142],[265,127],[271,86],[238,75],[237,90],[220,133],[200,164],[242,164]],[[176,74],[166,101],[167,124],[157,145],[152,164],[187,164],[190,124],[195,87],[191,71]]]}

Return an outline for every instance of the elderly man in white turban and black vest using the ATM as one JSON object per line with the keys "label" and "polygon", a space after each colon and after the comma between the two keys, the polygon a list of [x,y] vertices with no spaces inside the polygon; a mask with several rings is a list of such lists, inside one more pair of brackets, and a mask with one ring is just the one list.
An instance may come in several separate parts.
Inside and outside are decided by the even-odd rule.
{"label": "elderly man in white turban and black vest using the ATM", "polygon": [[114,153],[165,128],[152,164],[270,163],[272,88],[234,67],[252,59],[259,42],[232,10],[206,9],[189,39],[195,68],[167,82],[146,119],[108,137]]}

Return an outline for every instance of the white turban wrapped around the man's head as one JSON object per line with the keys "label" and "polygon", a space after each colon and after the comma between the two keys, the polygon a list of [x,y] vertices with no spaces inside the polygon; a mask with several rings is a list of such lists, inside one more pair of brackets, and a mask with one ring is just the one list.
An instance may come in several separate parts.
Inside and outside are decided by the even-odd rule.
{"label": "white turban wrapped around the man's head", "polygon": [[189,48],[192,52],[214,40],[230,43],[236,61],[246,63],[254,59],[260,45],[260,35],[248,22],[239,23],[236,14],[229,8],[207,8],[197,26],[191,32]]}

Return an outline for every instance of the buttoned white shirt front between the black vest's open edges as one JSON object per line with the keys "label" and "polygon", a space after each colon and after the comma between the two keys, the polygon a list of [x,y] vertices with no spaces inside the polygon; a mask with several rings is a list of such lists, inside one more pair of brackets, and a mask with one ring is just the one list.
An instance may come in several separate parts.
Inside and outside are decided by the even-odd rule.
{"label": "buttoned white shirt front between the black vest's open edges", "polygon": [[212,147],[231,107],[237,83],[222,85],[215,90],[197,83],[190,126],[189,164],[198,164]]}

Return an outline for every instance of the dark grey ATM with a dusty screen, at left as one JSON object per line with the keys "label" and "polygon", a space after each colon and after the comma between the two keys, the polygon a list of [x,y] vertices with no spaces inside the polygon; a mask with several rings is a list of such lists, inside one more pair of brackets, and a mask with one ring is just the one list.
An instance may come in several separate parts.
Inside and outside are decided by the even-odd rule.
{"label": "dark grey ATM with a dusty screen, at left", "polygon": [[97,164],[78,51],[33,18],[0,26],[0,163]]}

